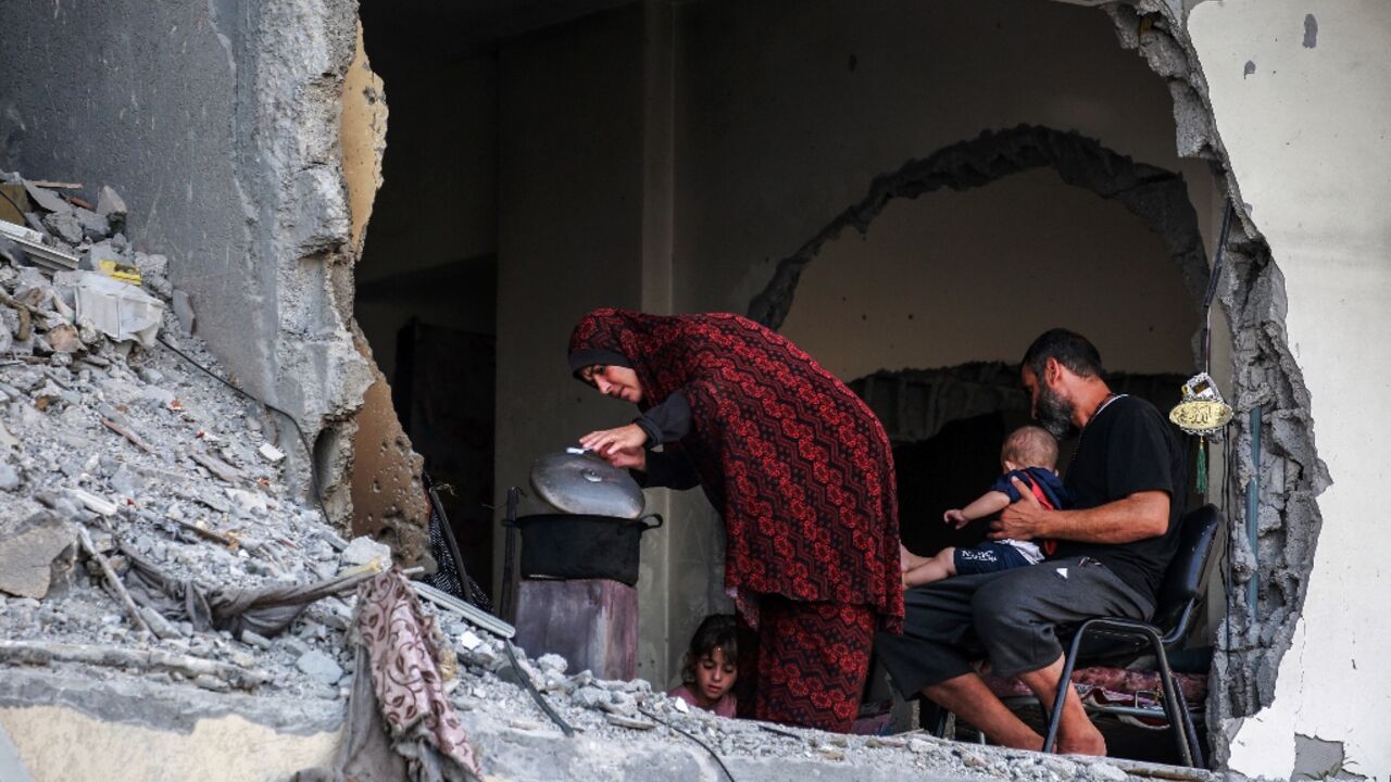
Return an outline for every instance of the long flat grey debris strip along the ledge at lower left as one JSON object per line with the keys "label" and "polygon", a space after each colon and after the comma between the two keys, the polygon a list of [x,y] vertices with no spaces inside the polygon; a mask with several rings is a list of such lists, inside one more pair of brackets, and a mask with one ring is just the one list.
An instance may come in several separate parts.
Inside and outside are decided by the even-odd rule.
{"label": "long flat grey debris strip along the ledge at lower left", "polygon": [[21,665],[83,662],[110,668],[134,668],[136,671],[171,671],[189,679],[213,676],[243,690],[253,689],[270,680],[270,675],[262,671],[248,671],[246,668],[189,654],[174,654],[157,648],[118,648],[113,646],[42,640],[0,640],[0,662]]}

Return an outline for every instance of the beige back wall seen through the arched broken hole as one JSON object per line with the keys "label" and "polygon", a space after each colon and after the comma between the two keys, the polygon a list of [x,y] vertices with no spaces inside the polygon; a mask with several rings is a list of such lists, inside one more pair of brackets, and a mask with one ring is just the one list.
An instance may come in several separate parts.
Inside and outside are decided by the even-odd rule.
{"label": "beige back wall seen through the arched broken hole", "polygon": [[[1075,135],[1018,131],[1056,138],[1067,150],[1093,147]],[[865,235],[846,231],[811,250],[815,257],[796,285],[782,333],[842,377],[1017,362],[1021,345],[1049,323],[1089,334],[1113,372],[1192,369],[1189,335],[1207,263],[1182,179],[1167,179],[1164,199],[1153,167],[1125,166],[1114,154],[1072,156],[1091,161],[1084,166],[1097,174],[1103,192],[1124,193],[1129,184],[1135,203],[1156,207],[1153,225],[1127,212],[1124,200],[1097,199],[1086,188],[1093,182],[1079,182],[1071,170],[1063,178],[1049,168],[1013,174],[1006,163],[1004,178],[993,179],[1002,166],[992,163],[1011,157],[1007,138],[1025,134],[1007,131],[949,147],[958,152],[960,177],[935,167],[926,177],[885,177],[897,182],[897,198],[882,213],[876,203],[860,214]],[[992,160],[964,154],[961,146],[989,150]],[[1129,170],[1136,175],[1128,177]],[[901,195],[924,186],[924,178],[940,181],[942,189]],[[979,186],[965,189],[972,185]],[[860,207],[850,212],[858,214]],[[1166,234],[1187,235],[1184,255],[1170,257]],[[1178,274],[1185,262],[1193,267],[1196,294],[1185,292]],[[769,291],[778,285],[775,278]]]}

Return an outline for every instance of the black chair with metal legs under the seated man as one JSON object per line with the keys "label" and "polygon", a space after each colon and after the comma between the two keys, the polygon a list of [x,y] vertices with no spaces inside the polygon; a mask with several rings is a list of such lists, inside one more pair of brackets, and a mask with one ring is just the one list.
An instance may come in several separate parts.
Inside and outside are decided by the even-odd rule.
{"label": "black chair with metal legs under the seated man", "polygon": [[[1180,520],[1178,551],[1174,552],[1174,558],[1168,564],[1168,570],[1164,573],[1164,583],[1159,590],[1153,621],[1141,622],[1124,616],[1093,616],[1078,625],[1063,662],[1063,676],[1057,685],[1053,712],[1049,715],[1047,732],[1043,737],[1043,751],[1053,751],[1053,744],[1057,742],[1057,725],[1063,717],[1063,697],[1067,694],[1067,687],[1072,683],[1072,669],[1114,660],[1123,654],[1134,657],[1136,651],[1148,646],[1149,651],[1159,661],[1157,672],[1164,687],[1164,712],[1170,728],[1174,731],[1178,757],[1182,758],[1185,765],[1203,765],[1202,747],[1198,743],[1198,729],[1193,728],[1193,721],[1188,714],[1188,704],[1184,703],[1182,690],[1174,680],[1167,653],[1181,644],[1192,629],[1198,596],[1203,587],[1207,555],[1212,551],[1213,538],[1217,536],[1221,525],[1221,511],[1214,505],[1203,505],[1184,515]],[[1088,653],[1085,658],[1079,660],[1078,650],[1082,648],[1082,640],[1089,635],[1132,643],[1124,651],[1117,651],[1111,646],[1106,653]],[[1135,644],[1134,641],[1139,643]],[[1104,712],[1107,707],[1091,707],[1091,710]]]}

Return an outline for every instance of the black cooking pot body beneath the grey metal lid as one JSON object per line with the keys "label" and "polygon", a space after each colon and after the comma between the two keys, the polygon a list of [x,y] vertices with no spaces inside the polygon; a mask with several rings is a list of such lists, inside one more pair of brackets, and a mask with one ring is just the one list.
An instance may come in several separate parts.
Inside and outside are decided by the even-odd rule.
{"label": "black cooking pot body beneath the grey metal lid", "polygon": [[612,579],[633,586],[643,533],[662,526],[662,516],[536,513],[504,523],[522,530],[522,577]]}

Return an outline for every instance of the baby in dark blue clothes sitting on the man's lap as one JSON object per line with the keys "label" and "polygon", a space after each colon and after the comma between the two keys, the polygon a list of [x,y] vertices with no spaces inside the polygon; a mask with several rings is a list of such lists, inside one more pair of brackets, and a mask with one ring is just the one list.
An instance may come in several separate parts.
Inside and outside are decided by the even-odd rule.
{"label": "baby in dark blue clothes sitting on the man's lap", "polygon": [[[965,508],[953,508],[942,515],[942,520],[961,529],[967,522],[999,513],[1011,502],[1020,501],[1020,493],[1010,481],[1017,477],[1034,490],[1040,505],[1049,509],[1066,508],[1071,500],[1063,481],[1057,477],[1057,441],[1047,430],[1038,426],[1022,426],[1004,440],[1000,449],[1004,474],[990,490]],[[1046,552],[1052,552],[1054,541],[1039,541]],[[936,557],[918,557],[907,548],[903,554],[903,586],[921,586],[939,582],[957,573],[990,573],[1022,568],[1043,559],[1045,551],[1028,540],[988,540],[971,548],[946,547]]]}

